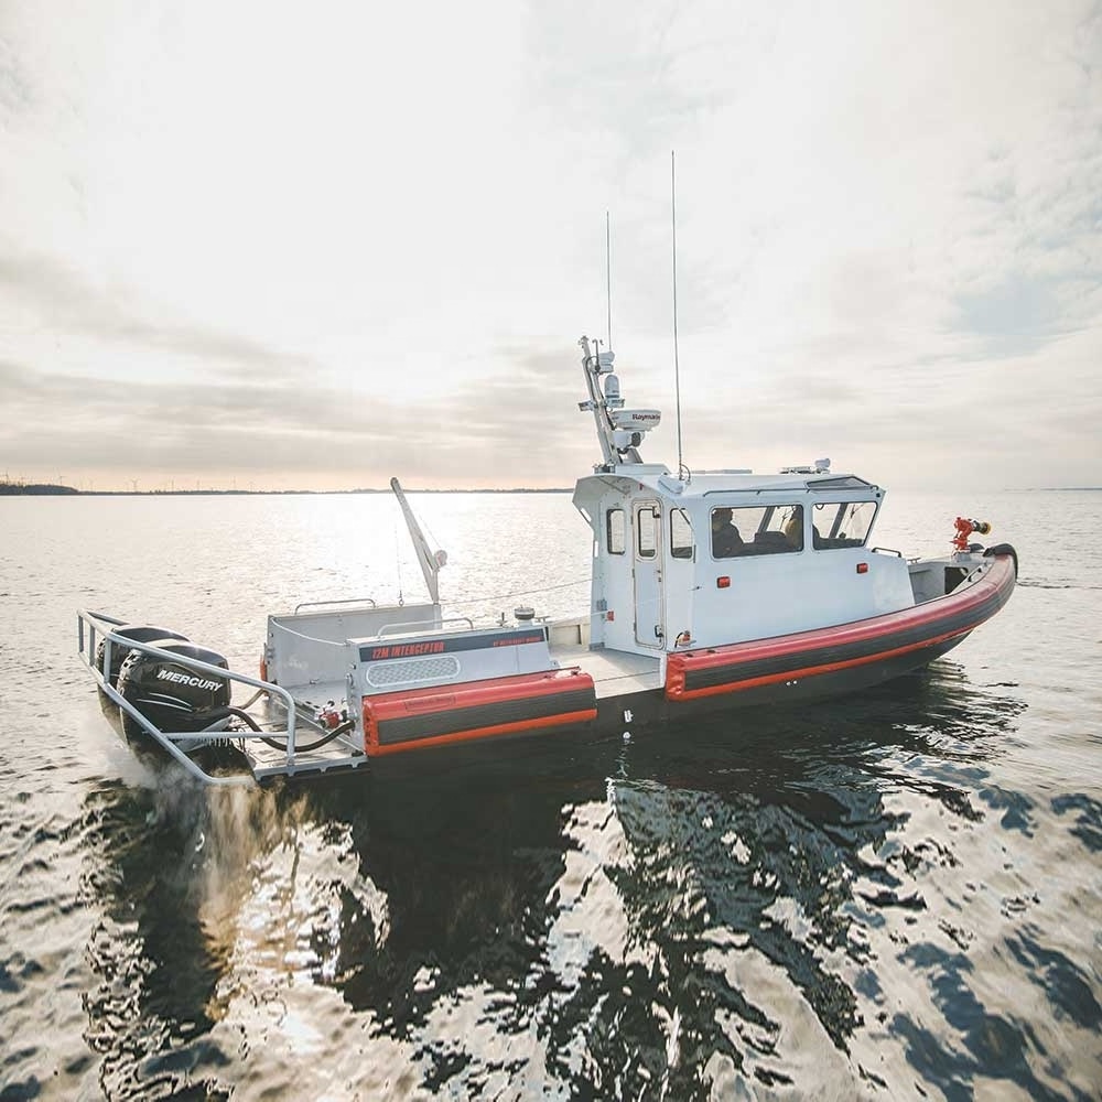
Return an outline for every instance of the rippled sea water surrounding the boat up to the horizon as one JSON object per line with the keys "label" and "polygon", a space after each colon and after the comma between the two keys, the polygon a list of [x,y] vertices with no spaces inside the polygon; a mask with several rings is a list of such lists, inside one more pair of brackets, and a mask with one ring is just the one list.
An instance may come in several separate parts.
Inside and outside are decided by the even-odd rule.
{"label": "rippled sea water surrounding the boat up to the horizon", "polygon": [[[456,613],[585,607],[568,496],[414,503]],[[1100,1096],[1102,494],[877,542],[958,511],[1022,577],[922,676],[227,792],[119,741],[76,608],[253,669],[268,611],[422,594],[393,504],[0,501],[0,1099]]]}

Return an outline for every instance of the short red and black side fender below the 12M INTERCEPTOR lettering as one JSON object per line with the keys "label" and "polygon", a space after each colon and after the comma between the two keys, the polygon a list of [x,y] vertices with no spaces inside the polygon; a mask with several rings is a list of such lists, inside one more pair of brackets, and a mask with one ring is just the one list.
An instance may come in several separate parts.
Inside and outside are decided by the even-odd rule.
{"label": "short red and black side fender below the 12M INTERCEPTOR lettering", "polygon": [[364,696],[363,706],[368,757],[561,727],[597,716],[593,678],[577,668],[380,693]]}

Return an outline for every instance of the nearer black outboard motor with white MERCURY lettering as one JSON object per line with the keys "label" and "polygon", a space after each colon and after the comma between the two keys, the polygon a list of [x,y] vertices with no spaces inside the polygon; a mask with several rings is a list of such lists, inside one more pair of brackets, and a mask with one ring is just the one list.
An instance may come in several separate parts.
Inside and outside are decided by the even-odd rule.
{"label": "nearer black outboard motor with white MERCURY lettering", "polygon": [[[145,640],[160,650],[169,650],[182,658],[195,659],[224,670],[229,663],[222,655],[193,642],[173,640]],[[227,678],[201,673],[190,666],[173,662],[156,655],[131,650],[119,670],[119,693],[160,731],[202,731],[218,715],[215,709],[229,705],[230,688]],[[137,720],[119,710],[122,730],[128,737],[144,732]]]}

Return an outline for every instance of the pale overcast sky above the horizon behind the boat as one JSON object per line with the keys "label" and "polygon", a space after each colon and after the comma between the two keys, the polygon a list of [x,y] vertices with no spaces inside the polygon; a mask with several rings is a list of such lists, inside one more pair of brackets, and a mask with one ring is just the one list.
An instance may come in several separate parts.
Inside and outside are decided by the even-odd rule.
{"label": "pale overcast sky above the horizon behind the boat", "polygon": [[0,0],[0,477],[1102,485],[1102,3]]}

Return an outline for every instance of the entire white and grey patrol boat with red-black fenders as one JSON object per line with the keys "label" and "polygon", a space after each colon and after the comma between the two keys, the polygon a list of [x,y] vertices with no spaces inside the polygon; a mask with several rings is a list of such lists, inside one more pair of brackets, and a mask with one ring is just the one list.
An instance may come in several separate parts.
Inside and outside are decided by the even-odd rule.
{"label": "entire white and grey patrol boat with red-black fenders", "polygon": [[[179,633],[80,612],[80,655],[127,735],[213,784],[504,755],[522,736],[858,691],[944,655],[1009,598],[1014,549],[972,541],[990,525],[958,517],[941,558],[874,547],[884,490],[829,461],[769,475],[644,462],[659,411],[627,408],[613,353],[580,346],[579,407],[601,449],[573,495],[593,542],[586,615],[445,615],[446,557],[391,479],[430,599],[270,615],[259,676]],[[205,768],[212,745],[240,769]]]}

